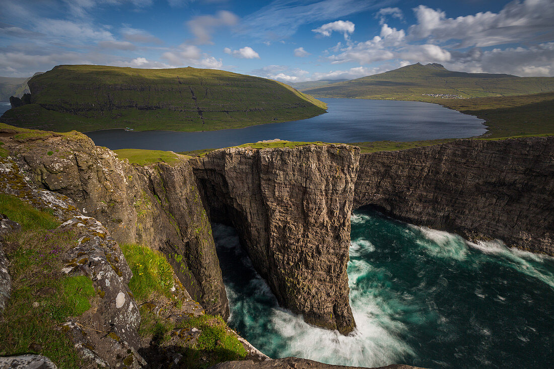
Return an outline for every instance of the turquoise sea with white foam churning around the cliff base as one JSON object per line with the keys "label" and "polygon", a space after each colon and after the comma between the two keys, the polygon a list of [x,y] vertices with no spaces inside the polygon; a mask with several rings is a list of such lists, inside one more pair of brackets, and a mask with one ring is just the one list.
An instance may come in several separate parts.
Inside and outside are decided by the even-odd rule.
{"label": "turquoise sea with white foam churning around the cliff base", "polygon": [[234,229],[215,225],[229,325],[271,357],[367,367],[551,367],[553,258],[469,243],[373,211],[351,220],[353,334],[312,327],[281,309]]}

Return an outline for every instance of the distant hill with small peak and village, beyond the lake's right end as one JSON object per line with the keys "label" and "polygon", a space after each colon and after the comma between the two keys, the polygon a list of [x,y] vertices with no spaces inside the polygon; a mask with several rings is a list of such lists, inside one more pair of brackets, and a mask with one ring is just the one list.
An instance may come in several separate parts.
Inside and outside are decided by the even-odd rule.
{"label": "distant hill with small peak and village, beyond the lake's right end", "polygon": [[[413,64],[385,73],[302,90],[317,98],[430,100],[479,98],[554,91],[554,77],[450,71],[440,64]],[[435,101],[436,102],[436,101]]]}

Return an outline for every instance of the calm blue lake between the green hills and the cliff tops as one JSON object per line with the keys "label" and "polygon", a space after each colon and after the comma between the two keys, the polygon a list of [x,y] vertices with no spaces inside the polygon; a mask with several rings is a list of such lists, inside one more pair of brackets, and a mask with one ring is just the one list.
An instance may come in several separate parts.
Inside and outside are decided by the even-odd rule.
{"label": "calm blue lake between the green hills and the cliff tops", "polygon": [[261,140],[362,142],[417,141],[479,136],[484,120],[418,101],[321,99],[326,114],[310,119],[206,132],[104,130],[88,132],[96,145],[112,150],[191,151]]}

